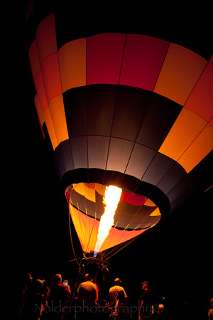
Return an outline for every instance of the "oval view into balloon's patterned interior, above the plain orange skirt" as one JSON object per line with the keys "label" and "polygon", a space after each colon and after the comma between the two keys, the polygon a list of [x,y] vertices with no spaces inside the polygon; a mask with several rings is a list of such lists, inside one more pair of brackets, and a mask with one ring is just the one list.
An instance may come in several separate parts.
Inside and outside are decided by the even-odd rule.
{"label": "oval view into balloon's patterned interior, above the plain orange skirt", "polygon": [[[104,213],[106,187],[100,183],[72,183],[65,191],[67,203],[84,215],[100,221]],[[160,208],[150,198],[122,188],[112,228],[147,229],[158,223],[160,218]]]}

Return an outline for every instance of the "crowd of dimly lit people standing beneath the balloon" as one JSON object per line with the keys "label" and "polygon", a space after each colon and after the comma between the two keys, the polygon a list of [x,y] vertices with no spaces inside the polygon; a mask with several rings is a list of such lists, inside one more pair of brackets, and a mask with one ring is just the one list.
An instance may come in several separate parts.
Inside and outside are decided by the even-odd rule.
{"label": "crowd of dimly lit people standing beneath the balloon", "polygon": [[[49,282],[25,274],[17,297],[16,320],[167,319],[165,306],[156,299],[147,281],[141,283],[138,305],[131,306],[119,278],[104,301],[99,297],[96,279],[84,274],[84,280],[71,291],[68,281],[62,282],[61,274],[55,274]],[[210,304],[207,319],[213,320],[213,299]]]}

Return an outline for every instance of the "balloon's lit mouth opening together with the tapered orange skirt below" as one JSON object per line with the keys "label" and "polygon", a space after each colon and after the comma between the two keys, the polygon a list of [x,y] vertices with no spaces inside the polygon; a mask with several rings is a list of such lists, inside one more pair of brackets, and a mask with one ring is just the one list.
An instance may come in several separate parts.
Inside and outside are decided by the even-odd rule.
{"label": "balloon's lit mouth opening together with the tapered orange skirt below", "polygon": [[[72,183],[65,192],[82,250],[93,251],[94,258],[109,247],[129,242],[141,235],[156,225],[161,218],[158,206],[149,198],[113,186],[110,197],[113,197],[118,189],[119,198],[114,205],[113,220],[110,220],[107,233],[101,232],[101,238],[102,234],[104,238],[99,240],[99,229],[106,207],[103,200],[107,188],[108,186],[99,183]],[[107,226],[106,220],[103,224],[104,227]]]}

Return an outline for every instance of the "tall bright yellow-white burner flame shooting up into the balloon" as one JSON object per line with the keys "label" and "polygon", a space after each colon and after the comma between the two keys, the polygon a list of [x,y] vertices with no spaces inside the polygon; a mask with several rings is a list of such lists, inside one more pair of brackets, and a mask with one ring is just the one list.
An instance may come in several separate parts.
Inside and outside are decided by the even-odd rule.
{"label": "tall bright yellow-white burner flame shooting up into the balloon", "polygon": [[102,244],[104,243],[104,240],[109,235],[111,226],[114,225],[114,215],[121,198],[121,192],[122,189],[116,186],[106,187],[103,199],[105,209],[100,220],[97,242],[94,248],[94,252],[99,252]]}

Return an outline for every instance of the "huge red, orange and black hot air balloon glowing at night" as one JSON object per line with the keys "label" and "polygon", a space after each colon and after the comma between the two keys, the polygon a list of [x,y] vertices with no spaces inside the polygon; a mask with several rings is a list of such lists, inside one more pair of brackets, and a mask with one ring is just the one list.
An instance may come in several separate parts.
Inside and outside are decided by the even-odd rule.
{"label": "huge red, orange and black hot air balloon glowing at night", "polygon": [[122,189],[104,252],[190,198],[190,174],[213,145],[213,59],[153,36],[97,33],[74,16],[35,2],[28,55],[83,252],[95,250],[106,187]]}

